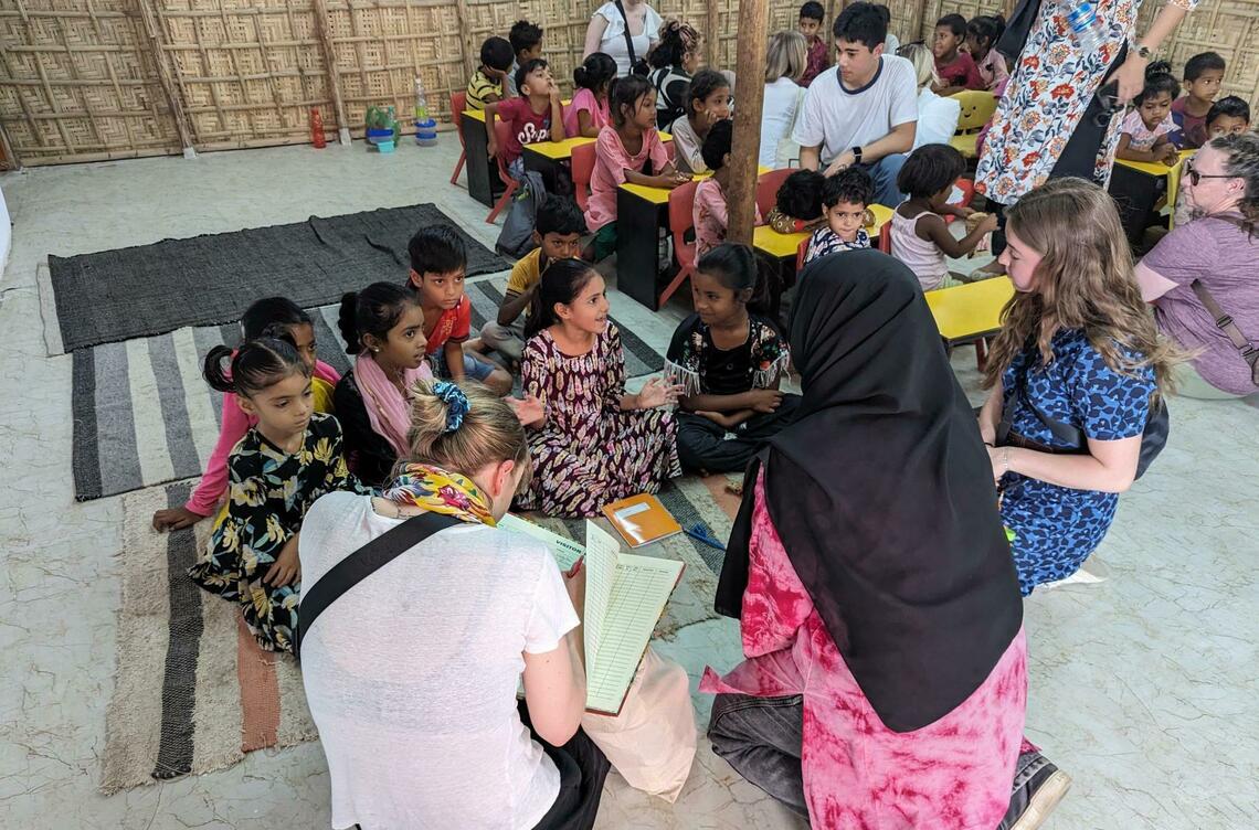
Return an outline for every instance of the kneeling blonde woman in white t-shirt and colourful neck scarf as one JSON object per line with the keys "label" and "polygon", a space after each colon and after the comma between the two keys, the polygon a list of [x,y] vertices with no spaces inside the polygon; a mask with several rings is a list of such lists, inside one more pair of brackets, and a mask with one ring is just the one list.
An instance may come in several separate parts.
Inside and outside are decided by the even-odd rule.
{"label": "kneeling blonde woman in white t-shirt and colourful neck scarf", "polygon": [[413,392],[410,460],[384,497],[330,494],[302,526],[303,582],[317,586],[412,516],[461,522],[349,589],[303,636],[332,826],[590,827],[608,762],[578,728],[584,575],[495,528],[529,478],[512,410],[477,385]]}

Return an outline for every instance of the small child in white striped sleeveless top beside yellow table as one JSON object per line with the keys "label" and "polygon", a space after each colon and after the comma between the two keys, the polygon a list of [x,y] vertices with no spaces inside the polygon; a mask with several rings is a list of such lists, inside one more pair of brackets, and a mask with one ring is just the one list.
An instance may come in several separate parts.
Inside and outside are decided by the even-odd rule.
{"label": "small child in white striped sleeveless top beside yellow table", "polygon": [[912,152],[896,176],[896,186],[909,199],[891,215],[891,255],[918,277],[923,290],[962,282],[951,274],[946,257],[964,257],[986,234],[997,229],[997,218],[985,215],[962,239],[953,236],[944,221],[953,182],[966,170],[966,160],[948,145],[924,145]]}

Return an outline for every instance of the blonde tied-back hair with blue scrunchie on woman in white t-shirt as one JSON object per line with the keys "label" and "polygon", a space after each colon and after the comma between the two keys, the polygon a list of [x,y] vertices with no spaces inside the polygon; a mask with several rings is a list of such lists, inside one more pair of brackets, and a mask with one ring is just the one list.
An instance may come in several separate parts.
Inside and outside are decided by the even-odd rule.
{"label": "blonde tied-back hair with blue scrunchie on woman in white t-shirt", "polygon": [[417,381],[410,389],[408,462],[471,477],[488,464],[515,462],[529,484],[529,441],[511,407],[481,384]]}

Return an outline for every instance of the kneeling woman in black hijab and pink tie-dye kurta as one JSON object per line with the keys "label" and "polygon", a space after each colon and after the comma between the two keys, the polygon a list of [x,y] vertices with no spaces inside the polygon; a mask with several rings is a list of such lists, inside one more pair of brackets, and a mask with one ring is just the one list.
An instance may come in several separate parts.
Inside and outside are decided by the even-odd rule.
{"label": "kneeling woman in black hijab and pink tie-dye kurta", "polygon": [[799,284],[803,400],[728,546],[716,610],[748,659],[700,685],[713,748],[815,827],[1035,827],[1069,778],[1021,741],[992,464],[917,279],[864,250]]}

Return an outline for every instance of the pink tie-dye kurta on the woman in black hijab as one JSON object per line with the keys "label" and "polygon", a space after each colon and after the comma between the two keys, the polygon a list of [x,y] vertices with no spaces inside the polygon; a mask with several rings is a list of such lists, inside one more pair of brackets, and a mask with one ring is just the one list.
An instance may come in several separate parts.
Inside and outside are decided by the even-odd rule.
{"label": "pink tie-dye kurta on the woman in black hijab", "polygon": [[803,695],[802,771],[813,827],[992,830],[1010,806],[1027,708],[1020,629],[988,679],[915,732],[888,729],[844,663],[792,567],[757,480],[743,595],[743,651],[700,690]]}

